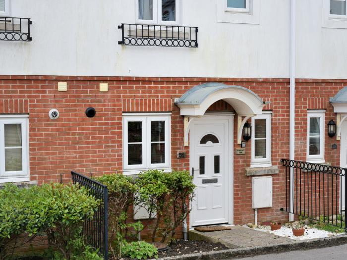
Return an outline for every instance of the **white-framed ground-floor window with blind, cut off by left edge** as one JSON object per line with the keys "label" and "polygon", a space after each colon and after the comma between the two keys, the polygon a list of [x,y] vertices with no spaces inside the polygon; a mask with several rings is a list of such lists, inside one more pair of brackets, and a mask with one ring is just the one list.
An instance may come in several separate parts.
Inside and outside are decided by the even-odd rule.
{"label": "white-framed ground-floor window with blind, cut off by left edge", "polygon": [[0,115],[0,182],[29,181],[28,117]]}

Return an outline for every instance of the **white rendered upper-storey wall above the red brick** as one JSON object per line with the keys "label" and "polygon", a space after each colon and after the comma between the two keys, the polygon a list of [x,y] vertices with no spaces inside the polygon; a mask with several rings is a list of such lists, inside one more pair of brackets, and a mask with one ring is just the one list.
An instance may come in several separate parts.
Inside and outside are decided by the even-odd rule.
{"label": "white rendered upper-storey wall above the red brick", "polygon": [[[0,74],[289,78],[289,0],[260,0],[259,24],[217,22],[216,1],[181,0],[199,48],[172,48],[117,44],[135,0],[11,0],[33,41],[0,41]],[[297,76],[347,78],[347,29],[322,28],[321,1],[297,6]]]}

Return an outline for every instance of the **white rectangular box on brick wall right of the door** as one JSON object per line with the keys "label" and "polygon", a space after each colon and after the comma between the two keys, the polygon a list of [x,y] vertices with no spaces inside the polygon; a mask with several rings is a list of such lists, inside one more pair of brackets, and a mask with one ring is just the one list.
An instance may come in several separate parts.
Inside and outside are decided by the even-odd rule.
{"label": "white rectangular box on brick wall right of the door", "polygon": [[272,176],[252,178],[252,208],[272,207]]}

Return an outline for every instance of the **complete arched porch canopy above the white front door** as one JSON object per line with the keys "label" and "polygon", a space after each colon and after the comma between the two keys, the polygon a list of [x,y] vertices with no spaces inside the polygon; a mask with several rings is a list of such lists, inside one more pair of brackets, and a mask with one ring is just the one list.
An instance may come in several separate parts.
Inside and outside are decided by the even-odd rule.
{"label": "complete arched porch canopy above the white front door", "polygon": [[266,104],[254,92],[241,87],[222,83],[205,83],[188,90],[175,101],[181,115],[204,115],[210,105],[219,100],[229,103],[239,116],[253,116],[262,113]]}

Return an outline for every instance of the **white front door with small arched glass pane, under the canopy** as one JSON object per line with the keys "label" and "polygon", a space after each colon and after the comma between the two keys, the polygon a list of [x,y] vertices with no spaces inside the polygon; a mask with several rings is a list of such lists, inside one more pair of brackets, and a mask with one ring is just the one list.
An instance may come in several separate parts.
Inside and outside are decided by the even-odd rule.
{"label": "white front door with small arched glass pane, under the canopy", "polygon": [[232,222],[232,115],[195,118],[190,171],[197,186],[190,226]]}

